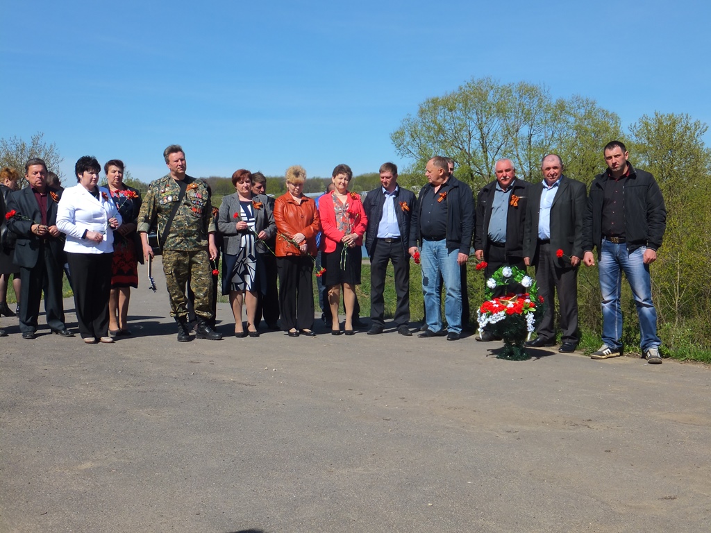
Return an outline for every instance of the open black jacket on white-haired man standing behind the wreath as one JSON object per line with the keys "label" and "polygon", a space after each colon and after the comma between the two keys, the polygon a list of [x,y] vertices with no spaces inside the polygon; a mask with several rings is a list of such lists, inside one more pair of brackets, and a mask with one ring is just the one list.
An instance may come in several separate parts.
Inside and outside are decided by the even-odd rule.
{"label": "open black jacket on white-haired man standing behind the wreath", "polygon": [[[518,196],[518,206],[508,205],[506,217],[506,257],[523,256],[523,231],[528,208],[528,182],[518,178],[511,184],[511,195]],[[476,198],[476,232],[474,232],[474,249],[486,251],[488,241],[488,225],[491,220],[491,205],[496,192],[496,180],[484,185]],[[484,257],[484,259],[488,259]]]}

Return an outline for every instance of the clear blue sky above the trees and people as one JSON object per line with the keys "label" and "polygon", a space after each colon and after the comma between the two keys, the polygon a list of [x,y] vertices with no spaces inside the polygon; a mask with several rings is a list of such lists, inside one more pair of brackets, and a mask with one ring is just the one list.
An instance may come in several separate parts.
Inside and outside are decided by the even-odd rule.
{"label": "clear blue sky above the trees and people", "polygon": [[390,133],[472,77],[590,97],[625,127],[711,123],[702,1],[5,0],[0,16],[0,137],[43,131],[65,183],[85,154],[152,181],[172,143],[193,176],[404,166]]}

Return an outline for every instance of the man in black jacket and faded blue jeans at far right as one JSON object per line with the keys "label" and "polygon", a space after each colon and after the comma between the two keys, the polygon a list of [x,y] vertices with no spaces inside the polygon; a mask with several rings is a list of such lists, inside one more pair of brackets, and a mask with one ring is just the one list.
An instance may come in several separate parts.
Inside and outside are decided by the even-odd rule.
{"label": "man in black jacket and faded blue jeans at far right", "polygon": [[666,229],[666,208],[659,185],[650,173],[627,161],[629,154],[620,141],[604,149],[607,171],[595,176],[587,200],[583,225],[587,266],[597,247],[602,292],[602,346],[590,357],[609,359],[622,355],[620,292],[624,272],[637,307],[644,358],[661,364],[657,336],[657,311],[652,303],[649,265],[657,259]]}

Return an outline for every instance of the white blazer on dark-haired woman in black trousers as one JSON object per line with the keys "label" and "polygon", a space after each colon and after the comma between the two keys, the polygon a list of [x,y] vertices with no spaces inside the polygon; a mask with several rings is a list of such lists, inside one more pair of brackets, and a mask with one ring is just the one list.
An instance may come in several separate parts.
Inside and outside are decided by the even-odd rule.
{"label": "white blazer on dark-haired woman in black trousers", "polygon": [[[67,236],[64,251],[73,254],[107,254],[114,251],[114,230],[109,227],[109,218],[122,223],[121,215],[109,195],[109,190],[99,187],[99,199],[80,183],[62,191],[57,210],[57,227]],[[99,232],[101,242],[82,239],[84,232]]]}

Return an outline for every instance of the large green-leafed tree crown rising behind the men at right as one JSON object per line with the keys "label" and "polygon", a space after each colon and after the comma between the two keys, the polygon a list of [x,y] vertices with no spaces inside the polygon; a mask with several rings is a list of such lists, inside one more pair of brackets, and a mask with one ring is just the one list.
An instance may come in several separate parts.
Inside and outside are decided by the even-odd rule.
{"label": "large green-leafed tree crown rising behind the men at right", "polygon": [[510,158],[518,176],[530,181],[538,179],[540,160],[550,152],[590,181],[602,147],[619,137],[619,124],[616,114],[594,100],[574,96],[553,102],[544,85],[501,85],[486,77],[425,100],[390,139],[400,156],[415,161],[402,172],[405,185],[424,183],[425,164],[439,154],[453,158],[455,176],[479,190],[493,178],[498,159]]}

